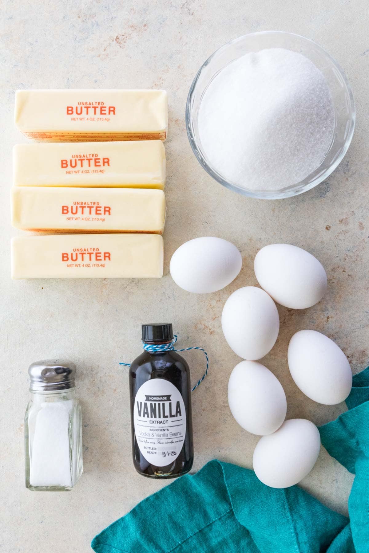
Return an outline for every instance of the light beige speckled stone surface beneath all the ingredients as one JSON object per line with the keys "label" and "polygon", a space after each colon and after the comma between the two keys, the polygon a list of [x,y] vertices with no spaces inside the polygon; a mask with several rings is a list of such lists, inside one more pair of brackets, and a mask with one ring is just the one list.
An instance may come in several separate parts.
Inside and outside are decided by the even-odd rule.
{"label": "light beige speckled stone surface beneath all the ingredients", "polygon": [[[201,63],[239,35],[278,29],[317,41],[344,67],[352,85],[357,124],[349,152],[323,184],[279,201],[251,200],[222,188],[196,161],[186,138],[186,95]],[[118,361],[141,351],[140,325],[173,321],[180,347],[198,345],[210,356],[210,375],[193,394],[194,471],[214,457],[251,466],[256,436],[243,431],[227,406],[227,380],[240,361],[221,332],[228,295],[254,285],[259,248],[287,242],[318,257],[328,273],[324,299],[305,311],[278,307],[280,333],[263,363],[282,382],[288,418],[316,424],[344,405],[304,397],[287,367],[293,333],[314,328],[334,338],[354,373],[368,364],[368,139],[369,39],[366,0],[206,2],[172,0],[51,2],[6,0],[1,13],[1,492],[4,553],[85,553],[93,536],[164,483],[138,476],[131,461],[128,386]],[[17,88],[152,88],[168,90],[170,105],[165,276],[162,280],[12,281],[9,222],[12,146],[25,139],[13,127]],[[243,269],[225,290],[191,295],[168,274],[183,242],[220,236],[242,252]],[[27,367],[40,358],[72,359],[84,418],[84,474],[70,493],[24,487],[23,415]],[[185,354],[193,380],[201,352]],[[346,512],[352,476],[321,450],[302,483],[331,508]]]}

